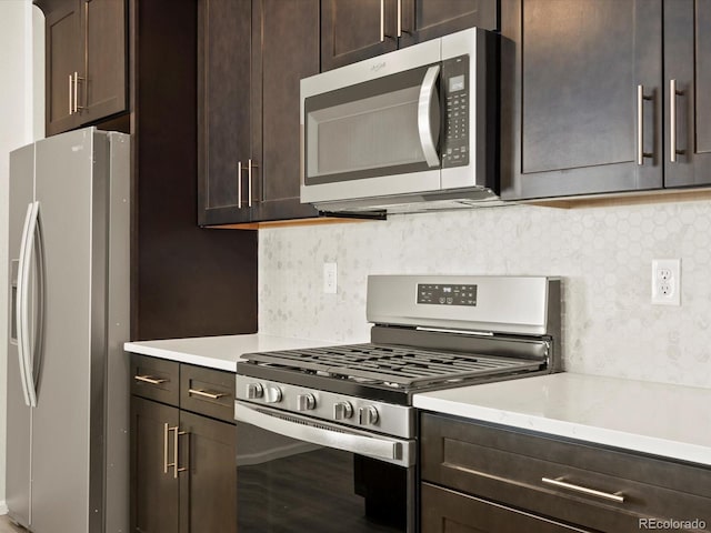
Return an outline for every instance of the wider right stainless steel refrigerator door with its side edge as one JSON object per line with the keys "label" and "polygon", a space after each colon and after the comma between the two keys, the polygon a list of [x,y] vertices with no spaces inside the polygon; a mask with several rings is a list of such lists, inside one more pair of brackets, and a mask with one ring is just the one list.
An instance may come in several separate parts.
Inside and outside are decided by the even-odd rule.
{"label": "wider right stainless steel refrigerator door with its side edge", "polygon": [[107,152],[106,133],[92,128],[37,142],[46,319],[32,424],[36,533],[103,530]]}

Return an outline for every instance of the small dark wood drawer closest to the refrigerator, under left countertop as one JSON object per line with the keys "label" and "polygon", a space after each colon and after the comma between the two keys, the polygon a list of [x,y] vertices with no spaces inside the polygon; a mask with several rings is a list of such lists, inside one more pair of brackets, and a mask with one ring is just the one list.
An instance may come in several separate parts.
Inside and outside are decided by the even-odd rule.
{"label": "small dark wood drawer closest to the refrigerator, under left countertop", "polygon": [[131,394],[178,405],[180,363],[131,354]]}

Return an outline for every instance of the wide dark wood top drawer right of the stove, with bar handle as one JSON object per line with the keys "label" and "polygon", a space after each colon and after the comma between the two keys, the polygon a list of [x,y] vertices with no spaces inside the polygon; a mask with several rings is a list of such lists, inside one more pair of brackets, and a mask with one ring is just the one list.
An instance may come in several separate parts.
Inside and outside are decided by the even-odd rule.
{"label": "wide dark wood top drawer right of the stove, with bar handle", "polygon": [[711,469],[551,435],[423,414],[422,477],[599,531],[650,517],[711,531]]}

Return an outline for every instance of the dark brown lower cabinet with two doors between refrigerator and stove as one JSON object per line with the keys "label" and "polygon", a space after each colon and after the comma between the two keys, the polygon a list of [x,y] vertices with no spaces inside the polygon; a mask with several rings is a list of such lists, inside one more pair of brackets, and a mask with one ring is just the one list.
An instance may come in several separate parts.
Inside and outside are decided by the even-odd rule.
{"label": "dark brown lower cabinet with two doors between refrigerator and stove", "polygon": [[131,531],[236,533],[234,374],[131,361]]}

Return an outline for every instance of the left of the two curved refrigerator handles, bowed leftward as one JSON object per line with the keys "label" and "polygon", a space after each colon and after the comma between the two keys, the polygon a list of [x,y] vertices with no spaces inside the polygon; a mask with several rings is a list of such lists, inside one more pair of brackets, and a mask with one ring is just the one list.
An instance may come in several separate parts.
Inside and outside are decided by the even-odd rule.
{"label": "left of the two curved refrigerator handles, bowed leftward", "polygon": [[[20,368],[23,368],[26,403],[31,406],[37,406],[37,391],[34,389],[34,379],[32,372],[32,353],[30,344],[30,270],[32,265],[32,253],[34,251],[34,238],[37,235],[38,219],[39,219],[40,202],[33,202],[29,208],[29,219],[26,219],[26,238],[23,241],[23,250],[20,250],[20,273],[19,278],[22,280],[22,284],[18,291],[20,293],[19,304],[21,305],[21,312],[18,316],[19,331],[18,334],[18,350],[20,354]],[[18,282],[19,284],[19,282]]]}

